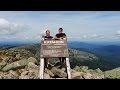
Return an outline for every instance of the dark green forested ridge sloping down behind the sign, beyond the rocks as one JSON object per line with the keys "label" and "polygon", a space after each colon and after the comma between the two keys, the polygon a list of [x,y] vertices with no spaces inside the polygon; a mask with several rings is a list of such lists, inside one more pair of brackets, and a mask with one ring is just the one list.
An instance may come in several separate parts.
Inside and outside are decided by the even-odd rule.
{"label": "dark green forested ridge sloping down behind the sign, beyond the rocks", "polygon": [[[35,58],[39,60],[40,58],[40,44],[33,45],[22,45],[17,47],[12,47],[9,50],[27,50],[35,55]],[[71,68],[78,66],[89,66],[90,68],[96,69],[100,68],[102,70],[109,70],[115,68],[116,66],[96,55],[95,53],[88,52],[85,49],[69,48]]]}

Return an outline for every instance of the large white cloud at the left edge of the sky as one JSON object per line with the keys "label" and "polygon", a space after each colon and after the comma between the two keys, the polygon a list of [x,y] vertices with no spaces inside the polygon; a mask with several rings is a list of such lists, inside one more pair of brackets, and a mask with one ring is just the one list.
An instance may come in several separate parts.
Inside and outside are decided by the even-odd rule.
{"label": "large white cloud at the left edge of the sky", "polygon": [[29,26],[26,24],[13,23],[4,18],[0,18],[0,35],[15,35],[28,29]]}

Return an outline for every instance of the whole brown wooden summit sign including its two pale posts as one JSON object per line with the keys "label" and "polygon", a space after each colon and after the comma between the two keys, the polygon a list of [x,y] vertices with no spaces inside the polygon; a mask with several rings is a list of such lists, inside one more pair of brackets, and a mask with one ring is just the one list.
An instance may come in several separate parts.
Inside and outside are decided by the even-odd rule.
{"label": "whole brown wooden summit sign including its two pale posts", "polygon": [[44,79],[44,58],[66,57],[68,79],[71,79],[69,54],[66,40],[42,40],[40,50],[40,79]]}

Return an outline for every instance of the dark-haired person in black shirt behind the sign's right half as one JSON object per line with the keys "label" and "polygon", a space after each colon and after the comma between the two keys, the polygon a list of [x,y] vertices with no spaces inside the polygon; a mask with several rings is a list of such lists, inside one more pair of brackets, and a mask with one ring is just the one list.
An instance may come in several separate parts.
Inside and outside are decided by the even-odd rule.
{"label": "dark-haired person in black shirt behind the sign's right half", "polygon": [[[55,35],[55,40],[67,40],[67,36],[63,33],[63,28],[59,28],[59,33]],[[60,62],[65,61],[65,57],[59,57]]]}

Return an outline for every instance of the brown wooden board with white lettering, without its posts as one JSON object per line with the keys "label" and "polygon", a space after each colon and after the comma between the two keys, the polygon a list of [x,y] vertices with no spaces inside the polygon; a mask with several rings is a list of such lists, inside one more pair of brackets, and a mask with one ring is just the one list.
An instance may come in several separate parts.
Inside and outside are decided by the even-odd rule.
{"label": "brown wooden board with white lettering, without its posts", "polygon": [[42,40],[40,57],[69,57],[66,40]]}

